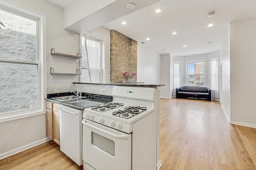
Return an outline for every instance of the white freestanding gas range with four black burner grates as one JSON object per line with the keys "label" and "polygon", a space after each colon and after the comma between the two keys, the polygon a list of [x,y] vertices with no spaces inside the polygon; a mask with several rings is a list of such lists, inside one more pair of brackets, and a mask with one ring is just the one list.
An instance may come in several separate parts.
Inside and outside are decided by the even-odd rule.
{"label": "white freestanding gas range with four black burner grates", "polygon": [[156,169],[155,88],[114,86],[113,102],[84,109],[85,170]]}

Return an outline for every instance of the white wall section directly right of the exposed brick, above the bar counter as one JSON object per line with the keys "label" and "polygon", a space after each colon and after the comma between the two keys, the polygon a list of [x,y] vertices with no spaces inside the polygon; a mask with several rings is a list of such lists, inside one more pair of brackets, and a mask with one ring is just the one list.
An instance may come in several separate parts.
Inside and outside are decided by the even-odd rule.
{"label": "white wall section directly right of the exposed brick, above the bar counter", "polygon": [[160,55],[138,43],[137,82],[160,84]]}

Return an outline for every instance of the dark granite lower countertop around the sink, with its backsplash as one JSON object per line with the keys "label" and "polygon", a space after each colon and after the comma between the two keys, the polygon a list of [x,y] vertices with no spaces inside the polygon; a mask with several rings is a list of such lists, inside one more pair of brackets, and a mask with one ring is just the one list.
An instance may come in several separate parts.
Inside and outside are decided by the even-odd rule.
{"label": "dark granite lower countertop around the sink, with its backsplash", "polygon": [[109,102],[112,102],[112,100],[113,100],[112,96],[90,94],[90,93],[82,93],[82,96],[84,96],[86,98],[80,98],[80,99],[76,99],[76,100],[60,101],[60,100],[52,99],[55,97],[71,96],[71,95],[73,95],[73,94],[70,92],[58,93],[58,94],[47,94],[47,98],[45,100],[49,101],[49,102],[59,103],[64,106],[72,107],[75,109],[80,109],[80,110],[82,110],[86,107],[92,107],[92,106],[95,106],[98,104],[109,103]]}

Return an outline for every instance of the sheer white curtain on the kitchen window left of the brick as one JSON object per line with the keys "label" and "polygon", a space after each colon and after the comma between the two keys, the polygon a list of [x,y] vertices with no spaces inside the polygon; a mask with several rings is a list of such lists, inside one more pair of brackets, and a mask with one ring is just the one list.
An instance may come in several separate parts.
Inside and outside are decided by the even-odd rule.
{"label": "sheer white curtain on the kitchen window left of the brick", "polygon": [[102,40],[88,34],[84,37],[90,82],[102,83]]}

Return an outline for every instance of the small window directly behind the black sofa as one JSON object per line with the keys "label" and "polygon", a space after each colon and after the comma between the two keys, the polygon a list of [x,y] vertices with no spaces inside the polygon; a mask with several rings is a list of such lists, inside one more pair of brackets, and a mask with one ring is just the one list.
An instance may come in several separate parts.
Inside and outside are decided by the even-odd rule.
{"label": "small window directly behind the black sofa", "polygon": [[187,85],[204,86],[204,62],[187,63]]}

